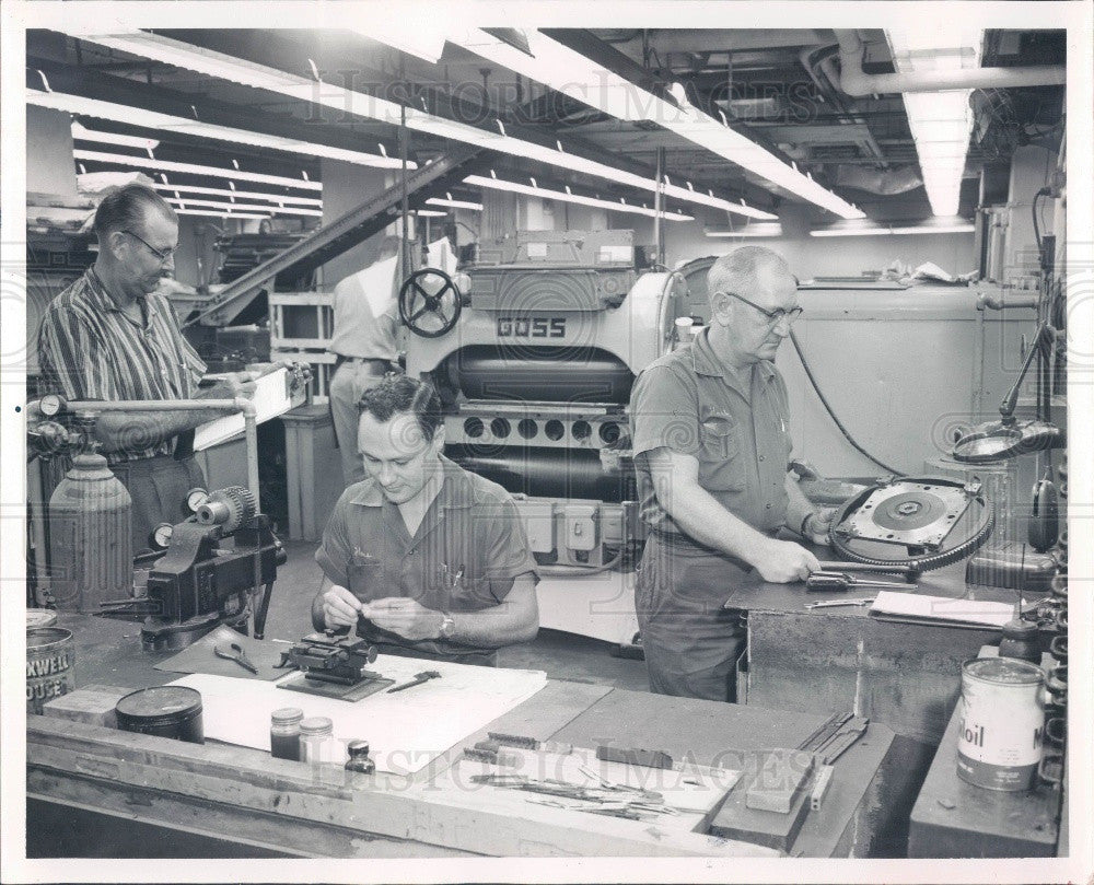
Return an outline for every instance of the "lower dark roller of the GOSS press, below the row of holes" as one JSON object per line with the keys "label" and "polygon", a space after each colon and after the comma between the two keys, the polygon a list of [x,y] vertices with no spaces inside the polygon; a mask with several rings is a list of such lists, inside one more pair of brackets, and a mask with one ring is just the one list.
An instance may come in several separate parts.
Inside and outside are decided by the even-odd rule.
{"label": "lower dark roller of the GOSS press, below the row of holes", "polygon": [[630,470],[606,473],[596,452],[534,446],[450,445],[444,452],[464,469],[514,494],[585,498],[618,503],[635,500]]}

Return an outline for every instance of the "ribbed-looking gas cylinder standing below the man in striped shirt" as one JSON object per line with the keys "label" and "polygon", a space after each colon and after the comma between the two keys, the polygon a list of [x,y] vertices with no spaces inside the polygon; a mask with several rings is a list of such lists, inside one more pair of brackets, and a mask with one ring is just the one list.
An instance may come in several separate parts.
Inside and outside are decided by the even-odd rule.
{"label": "ribbed-looking gas cylinder standing below the man in striped shirt", "polygon": [[49,498],[49,574],[59,609],[132,595],[132,499],[98,454],[72,458]]}

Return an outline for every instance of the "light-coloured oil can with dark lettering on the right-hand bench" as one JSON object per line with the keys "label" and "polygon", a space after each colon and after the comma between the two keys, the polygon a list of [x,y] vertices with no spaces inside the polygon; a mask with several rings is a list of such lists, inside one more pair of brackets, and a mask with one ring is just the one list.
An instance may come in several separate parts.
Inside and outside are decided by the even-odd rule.
{"label": "light-coloured oil can with dark lettering on the right-hand bench", "polygon": [[989,790],[1028,790],[1045,737],[1044,671],[1014,657],[962,665],[957,776]]}

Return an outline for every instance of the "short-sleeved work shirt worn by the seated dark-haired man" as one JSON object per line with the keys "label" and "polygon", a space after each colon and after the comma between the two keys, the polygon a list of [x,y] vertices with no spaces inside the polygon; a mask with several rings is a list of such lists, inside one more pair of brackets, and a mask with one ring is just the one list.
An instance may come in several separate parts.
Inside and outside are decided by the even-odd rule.
{"label": "short-sleeved work shirt worn by the seated dark-haired man", "polygon": [[[498,605],[513,581],[538,580],[524,523],[501,486],[442,457],[444,482],[414,537],[397,504],[374,480],[342,492],[315,551],[335,584],[368,602],[408,596],[438,612],[478,612]],[[446,642],[409,642],[373,628],[373,641],[442,656],[492,651]]]}

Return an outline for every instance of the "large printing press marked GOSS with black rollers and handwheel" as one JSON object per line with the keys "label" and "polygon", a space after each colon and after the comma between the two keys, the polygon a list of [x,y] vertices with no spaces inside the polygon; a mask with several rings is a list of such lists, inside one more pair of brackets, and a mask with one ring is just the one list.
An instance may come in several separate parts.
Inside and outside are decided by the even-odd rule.
{"label": "large printing press marked GOSS with black rollers and handwheel", "polygon": [[690,308],[680,273],[635,269],[632,241],[520,231],[480,246],[447,291],[428,269],[403,287],[407,372],[441,394],[445,454],[517,497],[549,574],[640,549],[627,403]]}

